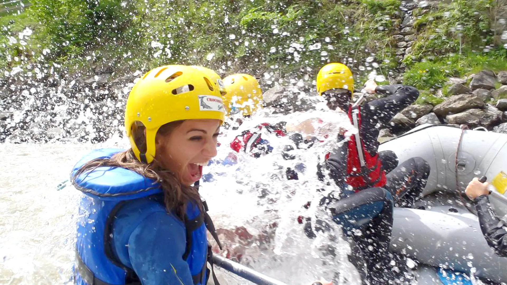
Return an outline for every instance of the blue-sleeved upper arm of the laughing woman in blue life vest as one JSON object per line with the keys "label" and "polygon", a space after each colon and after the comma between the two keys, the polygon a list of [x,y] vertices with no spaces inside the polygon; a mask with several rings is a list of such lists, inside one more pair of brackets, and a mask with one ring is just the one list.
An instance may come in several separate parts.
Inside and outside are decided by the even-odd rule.
{"label": "blue-sleeved upper arm of the laughing woman in blue life vest", "polygon": [[[183,223],[167,212],[153,212],[141,219],[120,215],[113,229],[119,260],[134,270],[143,285],[193,285],[183,260],[186,232]],[[120,218],[121,217],[121,218]],[[132,222],[134,227],[129,226]]]}

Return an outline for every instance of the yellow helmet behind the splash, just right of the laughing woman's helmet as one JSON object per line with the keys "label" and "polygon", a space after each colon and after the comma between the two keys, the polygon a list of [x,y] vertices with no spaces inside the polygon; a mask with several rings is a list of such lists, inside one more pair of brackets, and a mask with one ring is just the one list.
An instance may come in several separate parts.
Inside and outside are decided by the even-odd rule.
{"label": "yellow helmet behind the splash, just right of the laughing woman's helmet", "polygon": [[241,111],[243,116],[251,115],[262,102],[262,89],[255,77],[247,74],[234,74],[224,78],[227,94],[224,106],[228,114]]}

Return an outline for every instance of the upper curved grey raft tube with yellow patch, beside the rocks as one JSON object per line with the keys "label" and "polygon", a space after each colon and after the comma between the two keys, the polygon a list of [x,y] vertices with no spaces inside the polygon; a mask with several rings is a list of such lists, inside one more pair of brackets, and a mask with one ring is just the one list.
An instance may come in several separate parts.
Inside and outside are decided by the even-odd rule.
{"label": "upper curved grey raft tube with yellow patch, beside the rocks", "polygon": [[[500,195],[507,190],[507,134],[425,124],[380,144],[379,151],[385,150],[393,151],[400,163],[411,157],[429,163],[423,195],[442,190],[457,193],[482,175]],[[491,197],[498,215],[507,213],[507,196],[503,198]]]}

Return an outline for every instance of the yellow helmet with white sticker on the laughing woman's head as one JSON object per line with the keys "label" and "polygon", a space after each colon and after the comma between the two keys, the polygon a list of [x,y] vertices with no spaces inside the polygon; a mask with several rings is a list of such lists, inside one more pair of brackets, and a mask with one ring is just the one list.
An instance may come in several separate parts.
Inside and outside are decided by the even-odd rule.
{"label": "yellow helmet with white sticker on the laughing woman's head", "polygon": [[[125,109],[125,131],[139,161],[151,163],[155,157],[155,136],[167,123],[191,119],[217,119],[224,122],[220,91],[203,72],[184,65],[166,65],[150,70],[132,87]],[[140,153],[132,125],[146,127],[146,153]]]}

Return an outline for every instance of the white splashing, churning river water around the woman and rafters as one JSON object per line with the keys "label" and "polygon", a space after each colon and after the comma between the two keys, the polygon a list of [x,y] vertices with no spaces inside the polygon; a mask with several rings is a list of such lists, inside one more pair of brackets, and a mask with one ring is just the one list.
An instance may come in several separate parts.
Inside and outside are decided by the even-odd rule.
{"label": "white splashing, churning river water around the woman and rafters", "polygon": [[[267,114],[269,115],[269,114]],[[305,115],[310,118],[312,114]],[[301,120],[301,114],[290,117],[264,115],[245,122],[239,130],[225,130],[220,137],[217,159],[230,152],[229,142],[241,130],[261,122],[282,119]],[[335,121],[342,122],[337,116]],[[252,268],[286,283],[306,284],[316,278],[332,278],[341,271],[347,284],[359,283],[358,275],[347,261],[350,248],[345,241],[336,244],[338,256],[323,265],[318,247],[325,241],[310,240],[296,222],[301,205],[316,199],[315,189],[320,185],[315,171],[318,153],[332,144],[321,144],[312,151],[298,152],[296,160],[306,170],[299,181],[286,181],[285,168],[295,161],[281,158],[283,146],[291,144],[288,138],[266,134],[274,147],[273,153],[259,159],[238,155],[234,166],[212,164],[204,168],[214,181],[202,184],[201,194],[208,201],[210,215],[218,228],[244,225],[252,234],[265,229],[275,220],[279,227],[269,247],[260,250],[247,248],[245,261]],[[67,182],[71,167],[89,151],[96,148],[127,148],[126,139],[110,139],[102,144],[50,143],[0,145],[0,283],[2,284],[71,284],[74,261],[75,223],[81,193]],[[320,186],[321,187],[321,186]],[[58,190],[58,188],[60,190]],[[259,198],[260,189],[269,192],[271,199]],[[266,210],[275,210],[267,213]],[[252,218],[253,217],[253,218]],[[276,253],[276,254],[275,254]],[[219,279],[225,283],[246,284],[219,270]],[[225,278],[225,279],[224,279]]]}

